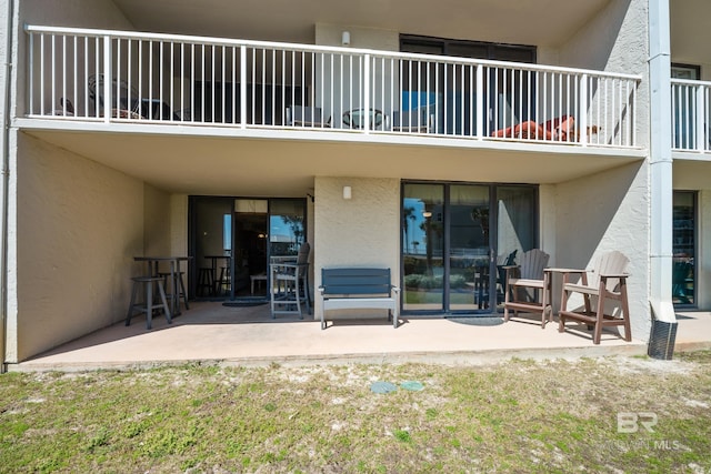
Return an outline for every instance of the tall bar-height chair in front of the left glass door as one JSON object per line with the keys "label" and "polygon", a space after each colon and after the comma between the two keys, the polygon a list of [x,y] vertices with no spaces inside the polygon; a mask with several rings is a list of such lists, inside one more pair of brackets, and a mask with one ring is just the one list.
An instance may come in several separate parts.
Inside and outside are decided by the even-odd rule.
{"label": "tall bar-height chair in front of the left glass door", "polygon": [[296,260],[272,259],[270,263],[271,316],[277,314],[298,314],[303,319],[302,304],[311,312],[309,290],[309,253],[311,245],[304,242],[299,248]]}

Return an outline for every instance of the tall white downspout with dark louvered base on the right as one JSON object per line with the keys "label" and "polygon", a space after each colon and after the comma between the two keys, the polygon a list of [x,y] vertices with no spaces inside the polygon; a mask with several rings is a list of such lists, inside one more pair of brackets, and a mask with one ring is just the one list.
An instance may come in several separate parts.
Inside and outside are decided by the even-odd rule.
{"label": "tall white downspout with dark louvered base on the right", "polygon": [[650,307],[648,354],[671,359],[677,334],[672,305],[671,39],[669,0],[649,0]]}

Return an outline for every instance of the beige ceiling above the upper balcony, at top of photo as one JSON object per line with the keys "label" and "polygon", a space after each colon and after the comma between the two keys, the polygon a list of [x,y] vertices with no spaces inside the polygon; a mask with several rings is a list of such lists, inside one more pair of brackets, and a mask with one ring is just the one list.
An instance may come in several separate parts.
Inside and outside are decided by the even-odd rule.
{"label": "beige ceiling above the upper balcony, at top of photo", "polygon": [[[113,0],[140,31],[312,43],[316,23],[554,47],[610,0]],[[448,14],[447,12],[451,12]]]}

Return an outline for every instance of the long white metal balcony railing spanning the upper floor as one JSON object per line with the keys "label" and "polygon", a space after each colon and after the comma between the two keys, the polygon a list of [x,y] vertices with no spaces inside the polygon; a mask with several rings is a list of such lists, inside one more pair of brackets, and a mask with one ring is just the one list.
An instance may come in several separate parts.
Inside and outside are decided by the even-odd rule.
{"label": "long white metal balcony railing spanning the upper floor", "polygon": [[30,118],[637,145],[634,75],[184,36],[26,31]]}

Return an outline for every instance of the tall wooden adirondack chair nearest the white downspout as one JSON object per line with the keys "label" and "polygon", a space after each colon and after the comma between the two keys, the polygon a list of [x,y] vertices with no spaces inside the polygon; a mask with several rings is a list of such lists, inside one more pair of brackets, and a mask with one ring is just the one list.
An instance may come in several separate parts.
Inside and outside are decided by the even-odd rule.
{"label": "tall wooden adirondack chair nearest the white downspout", "polygon": [[[630,330],[630,309],[627,299],[627,265],[630,260],[624,254],[614,251],[603,254],[597,266],[591,271],[557,269],[563,274],[563,293],[561,307],[558,313],[559,332],[565,331],[565,321],[574,320],[588,324],[593,329],[592,342],[600,344],[602,327],[624,326],[624,340],[632,341]],[[590,273],[590,279],[588,278]],[[579,283],[571,283],[571,274],[580,274]],[[583,296],[584,307],[571,310],[568,307],[570,295],[580,293]],[[594,296],[595,307],[592,307]],[[604,306],[608,300],[619,301],[620,314],[605,314]]]}

